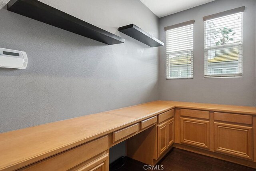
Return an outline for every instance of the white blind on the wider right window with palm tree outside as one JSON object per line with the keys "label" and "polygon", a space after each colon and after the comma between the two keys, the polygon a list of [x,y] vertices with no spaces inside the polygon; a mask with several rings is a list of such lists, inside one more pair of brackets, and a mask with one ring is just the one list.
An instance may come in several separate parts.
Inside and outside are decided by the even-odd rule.
{"label": "white blind on the wider right window with palm tree outside", "polygon": [[204,76],[242,76],[243,12],[219,15],[204,18]]}

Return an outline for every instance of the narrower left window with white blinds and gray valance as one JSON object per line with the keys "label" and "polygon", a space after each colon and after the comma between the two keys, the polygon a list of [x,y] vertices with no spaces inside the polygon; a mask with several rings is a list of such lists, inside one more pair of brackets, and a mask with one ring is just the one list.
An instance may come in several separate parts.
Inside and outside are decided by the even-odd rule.
{"label": "narrower left window with white blinds and gray valance", "polygon": [[193,78],[194,20],[166,30],[166,79]]}

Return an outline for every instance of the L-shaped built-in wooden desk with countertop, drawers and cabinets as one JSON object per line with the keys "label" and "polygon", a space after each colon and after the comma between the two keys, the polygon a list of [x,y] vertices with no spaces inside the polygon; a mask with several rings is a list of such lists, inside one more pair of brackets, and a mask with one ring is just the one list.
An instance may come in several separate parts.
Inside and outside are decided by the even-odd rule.
{"label": "L-shaped built-in wooden desk with countertop, drawers and cabinets", "polygon": [[[173,110],[174,115],[170,110]],[[164,119],[159,122],[159,118]],[[198,133],[194,133],[194,129]],[[175,146],[256,168],[254,130],[255,107],[153,101],[0,133],[0,170],[30,170],[35,165],[45,167],[50,165],[52,159],[56,165],[60,160],[72,159],[70,163],[66,162],[69,165],[65,165],[65,168],[73,170],[108,169],[109,147],[126,139],[127,148],[132,149],[129,150],[132,151],[129,155],[134,155],[134,159],[142,161],[143,156],[135,154],[138,154],[138,151],[145,151],[149,146],[141,144],[140,148],[137,147],[136,144],[143,140],[138,140],[138,137],[154,140],[150,145],[155,149],[148,153],[150,159],[146,159],[153,159],[153,164],[164,156],[168,149]],[[170,134],[172,131],[173,139]],[[232,144],[224,144],[224,141],[229,142],[230,139]],[[239,141],[237,145],[234,139]],[[107,149],[104,145],[106,143]],[[69,154],[77,154],[78,148],[78,151],[92,149],[94,153],[90,153],[92,156],[80,153],[77,156],[79,161],[76,161],[76,157]],[[63,170],[61,165],[58,169]]]}

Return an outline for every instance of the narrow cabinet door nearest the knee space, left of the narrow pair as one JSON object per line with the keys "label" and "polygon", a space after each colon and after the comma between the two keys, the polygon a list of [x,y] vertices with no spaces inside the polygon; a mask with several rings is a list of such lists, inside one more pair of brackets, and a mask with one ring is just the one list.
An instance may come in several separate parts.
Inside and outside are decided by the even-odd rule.
{"label": "narrow cabinet door nearest the knee space, left of the narrow pair", "polygon": [[167,122],[157,126],[157,156],[167,149]]}

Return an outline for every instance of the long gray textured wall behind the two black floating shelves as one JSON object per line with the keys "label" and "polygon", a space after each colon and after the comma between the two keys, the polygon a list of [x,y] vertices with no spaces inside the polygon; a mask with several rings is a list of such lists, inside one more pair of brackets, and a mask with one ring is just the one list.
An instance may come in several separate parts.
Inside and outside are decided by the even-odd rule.
{"label": "long gray textured wall behind the two black floating shelves", "polygon": [[0,47],[28,54],[28,68],[0,68],[0,132],[158,100],[158,48],[118,32],[134,23],[158,37],[140,0],[40,0],[125,38],[108,46],[6,10]]}

